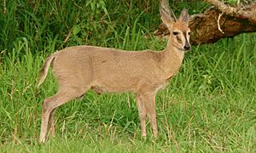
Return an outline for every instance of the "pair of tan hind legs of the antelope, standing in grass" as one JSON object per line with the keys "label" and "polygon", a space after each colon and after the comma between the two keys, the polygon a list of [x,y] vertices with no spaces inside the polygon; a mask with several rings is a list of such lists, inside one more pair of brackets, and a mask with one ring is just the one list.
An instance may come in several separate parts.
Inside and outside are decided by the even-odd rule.
{"label": "pair of tan hind legs of the antelope, standing in grass", "polygon": [[52,127],[54,124],[54,110],[58,106],[67,103],[69,100],[81,96],[82,94],[84,94],[84,92],[86,92],[84,88],[73,88],[71,86],[65,86],[60,88],[60,91],[57,94],[44,100],[41,133],[39,139],[40,142],[45,141],[47,129]]}

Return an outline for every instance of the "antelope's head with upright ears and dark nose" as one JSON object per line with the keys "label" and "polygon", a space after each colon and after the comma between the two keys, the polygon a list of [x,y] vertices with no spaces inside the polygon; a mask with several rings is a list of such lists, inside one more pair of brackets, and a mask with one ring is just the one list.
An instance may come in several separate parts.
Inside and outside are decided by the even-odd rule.
{"label": "antelope's head with upright ears and dark nose", "polygon": [[187,9],[183,8],[183,11],[177,19],[173,13],[171,16],[169,6],[165,6],[161,3],[160,15],[161,20],[170,31],[169,41],[172,42],[172,45],[183,51],[189,50],[191,47],[189,43],[190,29]]}

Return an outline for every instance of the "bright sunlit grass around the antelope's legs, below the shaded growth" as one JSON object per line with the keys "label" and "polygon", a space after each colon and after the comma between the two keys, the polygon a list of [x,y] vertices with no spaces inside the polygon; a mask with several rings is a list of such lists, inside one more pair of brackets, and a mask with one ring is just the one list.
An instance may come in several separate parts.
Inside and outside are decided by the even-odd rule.
{"label": "bright sunlit grass around the antelope's legs, below the shaded growth", "polygon": [[[55,94],[50,73],[36,78],[45,54],[31,54],[26,39],[1,63],[1,152],[24,151],[247,151],[256,149],[255,50],[253,34],[186,54],[170,85],[157,94],[160,137],[141,139],[132,94],[87,93],[56,113],[56,137],[38,144],[42,102]],[[143,40],[142,40],[143,41]],[[145,41],[145,40],[144,40]],[[152,40],[154,41],[154,40]],[[16,59],[20,52],[24,54]]]}

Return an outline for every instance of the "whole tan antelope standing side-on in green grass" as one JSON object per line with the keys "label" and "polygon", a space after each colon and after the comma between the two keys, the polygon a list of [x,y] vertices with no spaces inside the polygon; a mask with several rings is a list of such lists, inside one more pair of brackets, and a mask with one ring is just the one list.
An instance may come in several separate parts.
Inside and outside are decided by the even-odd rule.
{"label": "whole tan antelope standing side-on in green grass", "polygon": [[44,100],[40,142],[45,141],[48,131],[52,135],[55,133],[55,109],[71,99],[82,97],[89,89],[97,94],[134,93],[142,136],[146,136],[147,113],[154,136],[158,135],[155,94],[177,73],[185,51],[190,49],[187,10],[183,9],[176,19],[171,17],[169,6],[162,3],[160,16],[170,31],[167,47],[163,51],[75,46],[64,48],[46,59],[38,86],[44,82],[52,64],[59,91]]}

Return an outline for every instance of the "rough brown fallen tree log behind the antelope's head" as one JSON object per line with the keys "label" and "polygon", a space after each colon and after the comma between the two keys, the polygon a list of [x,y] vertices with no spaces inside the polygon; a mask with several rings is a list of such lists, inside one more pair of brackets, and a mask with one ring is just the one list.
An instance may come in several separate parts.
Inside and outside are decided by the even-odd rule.
{"label": "rough brown fallen tree log behind the antelope's head", "polygon": [[[190,16],[189,28],[191,30],[190,42],[192,45],[213,43],[224,37],[235,37],[245,32],[256,31],[256,3],[233,8],[218,0],[207,0],[213,7],[208,8],[204,14]],[[161,23],[157,37],[166,37],[169,31]]]}

